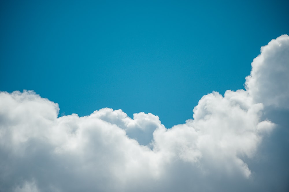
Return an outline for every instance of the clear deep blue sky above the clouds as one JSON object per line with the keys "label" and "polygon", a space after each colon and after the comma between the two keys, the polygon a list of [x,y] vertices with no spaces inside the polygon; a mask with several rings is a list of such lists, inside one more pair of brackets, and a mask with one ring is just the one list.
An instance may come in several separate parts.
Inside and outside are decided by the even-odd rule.
{"label": "clear deep blue sky above the clouds", "polygon": [[1,1],[0,90],[60,115],[153,113],[168,128],[212,91],[243,89],[260,46],[288,33],[288,1]]}

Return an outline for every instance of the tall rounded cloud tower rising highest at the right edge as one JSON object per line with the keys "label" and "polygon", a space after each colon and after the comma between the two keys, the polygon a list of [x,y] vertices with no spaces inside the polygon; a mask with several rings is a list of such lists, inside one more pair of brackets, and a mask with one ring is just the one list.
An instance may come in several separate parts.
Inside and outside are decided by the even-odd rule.
{"label": "tall rounded cloud tower rising highest at the right edge", "polygon": [[255,102],[289,109],[289,38],[282,35],[261,47],[246,87]]}

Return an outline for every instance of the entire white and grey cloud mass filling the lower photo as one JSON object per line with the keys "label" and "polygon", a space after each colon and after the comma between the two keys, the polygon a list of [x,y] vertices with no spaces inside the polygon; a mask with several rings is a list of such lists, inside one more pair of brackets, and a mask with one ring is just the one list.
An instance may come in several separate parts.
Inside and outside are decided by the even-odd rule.
{"label": "entire white and grey cloud mass filling the lower photo", "polygon": [[0,92],[0,189],[288,191],[289,37],[261,48],[246,90],[203,96],[193,119],[109,108],[58,117],[33,91]]}

